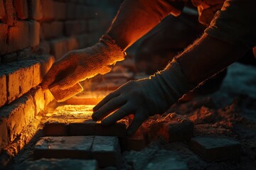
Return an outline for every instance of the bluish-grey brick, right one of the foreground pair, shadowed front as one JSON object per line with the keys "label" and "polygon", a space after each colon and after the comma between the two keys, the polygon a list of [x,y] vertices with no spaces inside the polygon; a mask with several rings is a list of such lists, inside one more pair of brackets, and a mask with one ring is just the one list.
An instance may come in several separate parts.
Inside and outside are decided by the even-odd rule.
{"label": "bluish-grey brick, right one of the foreground pair, shadowed front", "polygon": [[92,144],[92,157],[100,167],[116,166],[121,164],[121,154],[117,137],[95,136]]}

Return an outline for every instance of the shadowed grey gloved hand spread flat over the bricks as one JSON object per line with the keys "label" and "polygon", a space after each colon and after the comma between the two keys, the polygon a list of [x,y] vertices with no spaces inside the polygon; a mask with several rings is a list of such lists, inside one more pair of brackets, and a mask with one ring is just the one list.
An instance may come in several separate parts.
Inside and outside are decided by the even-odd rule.
{"label": "shadowed grey gloved hand spread flat over the bricks", "polygon": [[149,79],[129,81],[107,95],[93,108],[92,119],[111,125],[127,115],[134,115],[127,129],[127,135],[132,135],[146,118],[164,113],[190,89],[191,84],[183,77],[178,63],[174,61],[168,69]]}

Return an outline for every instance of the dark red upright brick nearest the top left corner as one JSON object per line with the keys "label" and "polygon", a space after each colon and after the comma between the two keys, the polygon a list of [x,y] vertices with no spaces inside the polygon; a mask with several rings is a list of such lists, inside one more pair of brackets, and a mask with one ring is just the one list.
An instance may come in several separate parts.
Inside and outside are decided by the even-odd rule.
{"label": "dark red upright brick nearest the top left corner", "polygon": [[5,1],[5,11],[6,13],[2,21],[9,26],[14,26],[16,23],[16,12],[14,10],[13,0]]}

